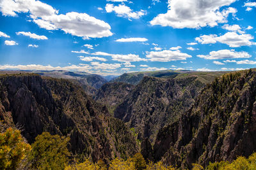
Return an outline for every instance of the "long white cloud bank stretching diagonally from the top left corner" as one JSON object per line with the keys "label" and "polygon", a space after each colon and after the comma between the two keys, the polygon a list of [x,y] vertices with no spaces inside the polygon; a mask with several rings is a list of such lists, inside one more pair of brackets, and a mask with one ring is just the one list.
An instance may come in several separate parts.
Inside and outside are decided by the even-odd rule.
{"label": "long white cloud bank stretching diagonally from the top left corner", "polygon": [[69,12],[58,15],[49,4],[35,0],[1,0],[0,11],[3,15],[16,16],[17,13],[30,13],[33,22],[47,30],[61,29],[73,36],[84,39],[112,36],[108,23],[91,17],[86,13]]}

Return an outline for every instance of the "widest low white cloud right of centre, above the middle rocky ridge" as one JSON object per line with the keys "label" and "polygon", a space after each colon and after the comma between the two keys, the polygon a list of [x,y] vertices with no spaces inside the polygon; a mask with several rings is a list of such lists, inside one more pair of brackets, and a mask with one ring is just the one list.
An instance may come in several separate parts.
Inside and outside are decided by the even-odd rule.
{"label": "widest low white cloud right of centre, above the middle rocky ridge", "polygon": [[180,52],[180,50],[163,50],[159,52],[147,52],[146,57],[150,61],[168,62],[171,60],[186,60],[187,58],[191,58],[192,56],[188,55],[188,53],[182,53]]}

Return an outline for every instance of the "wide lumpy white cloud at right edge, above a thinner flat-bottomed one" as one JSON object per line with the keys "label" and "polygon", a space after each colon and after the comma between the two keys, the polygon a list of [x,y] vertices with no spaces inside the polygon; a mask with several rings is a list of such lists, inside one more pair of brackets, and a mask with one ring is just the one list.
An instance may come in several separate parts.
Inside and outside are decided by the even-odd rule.
{"label": "wide lumpy white cloud at right edge, above a thinner flat-bottomed one", "polygon": [[216,34],[210,34],[209,36],[203,35],[195,39],[202,44],[214,44],[220,42],[230,47],[256,45],[256,43],[250,41],[253,39],[251,34],[237,34],[237,32],[227,32],[222,36],[217,36]]}

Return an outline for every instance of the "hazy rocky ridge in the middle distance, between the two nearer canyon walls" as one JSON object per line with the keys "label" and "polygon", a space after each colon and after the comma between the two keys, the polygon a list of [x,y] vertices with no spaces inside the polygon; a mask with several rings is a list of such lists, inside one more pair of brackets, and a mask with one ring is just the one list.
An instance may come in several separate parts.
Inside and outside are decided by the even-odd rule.
{"label": "hazy rocky ridge in the middle distance, between the two nearer canyon walls", "polygon": [[135,128],[138,139],[152,142],[161,127],[188,110],[202,87],[196,77],[174,80],[145,76],[116,107],[114,115]]}

